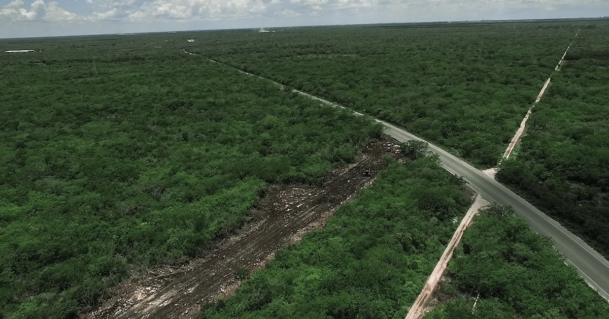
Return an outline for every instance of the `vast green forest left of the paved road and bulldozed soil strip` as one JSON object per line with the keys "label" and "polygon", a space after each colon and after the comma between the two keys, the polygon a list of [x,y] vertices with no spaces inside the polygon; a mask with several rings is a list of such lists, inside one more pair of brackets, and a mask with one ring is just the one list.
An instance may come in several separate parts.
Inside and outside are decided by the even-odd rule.
{"label": "vast green forest left of the paved road and bulldozed soil strip", "polygon": [[75,317],[380,135],[163,39],[0,41],[41,50],[0,60],[0,317]]}

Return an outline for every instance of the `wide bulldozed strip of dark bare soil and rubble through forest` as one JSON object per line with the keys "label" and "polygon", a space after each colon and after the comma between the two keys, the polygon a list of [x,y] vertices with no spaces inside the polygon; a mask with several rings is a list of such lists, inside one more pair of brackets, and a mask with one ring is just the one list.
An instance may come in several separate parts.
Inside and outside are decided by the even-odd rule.
{"label": "wide bulldozed strip of dark bare soil and rubble through forest", "polygon": [[[264,268],[276,251],[323,228],[325,221],[357,190],[372,184],[396,156],[396,142],[368,145],[356,164],[339,168],[320,187],[273,185],[237,234],[221,240],[211,253],[180,267],[163,267],[118,285],[101,306],[81,318],[197,318],[200,306],[231,295],[241,285],[237,270]],[[365,177],[370,170],[372,177]]]}

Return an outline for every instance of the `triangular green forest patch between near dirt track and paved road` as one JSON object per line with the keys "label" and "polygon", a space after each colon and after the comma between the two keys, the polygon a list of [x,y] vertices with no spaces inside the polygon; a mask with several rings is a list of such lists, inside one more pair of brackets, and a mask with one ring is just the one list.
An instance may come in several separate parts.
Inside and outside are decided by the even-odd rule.
{"label": "triangular green forest patch between near dirt track and paved road", "polygon": [[447,275],[448,284],[437,294],[451,300],[426,319],[579,319],[609,314],[607,301],[565,264],[551,242],[504,207],[490,207],[474,218]]}

